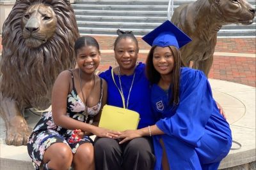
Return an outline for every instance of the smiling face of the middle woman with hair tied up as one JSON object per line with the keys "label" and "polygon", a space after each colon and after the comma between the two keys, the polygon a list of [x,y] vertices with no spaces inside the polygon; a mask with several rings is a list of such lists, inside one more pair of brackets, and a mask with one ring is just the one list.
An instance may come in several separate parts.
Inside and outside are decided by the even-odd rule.
{"label": "smiling face of the middle woman with hair tied up", "polygon": [[120,70],[130,70],[136,66],[138,59],[138,46],[132,38],[122,38],[115,46],[115,59]]}

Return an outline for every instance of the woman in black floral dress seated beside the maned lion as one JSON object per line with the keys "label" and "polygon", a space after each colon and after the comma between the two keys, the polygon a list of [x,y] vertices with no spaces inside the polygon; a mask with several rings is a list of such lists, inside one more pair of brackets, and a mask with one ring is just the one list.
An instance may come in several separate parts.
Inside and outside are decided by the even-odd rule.
{"label": "woman in black floral dress seated beside the maned lion", "polygon": [[[52,111],[43,113],[28,141],[35,169],[95,169],[89,134],[115,137],[97,127],[106,103],[107,83],[95,75],[100,51],[96,39],[77,39],[77,68],[60,73],[52,88]],[[77,130],[79,129],[79,130]]]}

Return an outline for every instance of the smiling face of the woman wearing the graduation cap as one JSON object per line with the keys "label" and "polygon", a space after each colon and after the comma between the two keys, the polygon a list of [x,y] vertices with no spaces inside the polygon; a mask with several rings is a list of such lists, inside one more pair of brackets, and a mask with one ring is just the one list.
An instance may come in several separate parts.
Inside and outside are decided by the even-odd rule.
{"label": "smiling face of the woman wearing the graduation cap", "polygon": [[156,46],[153,52],[153,66],[161,75],[169,75],[175,64],[173,53],[169,46]]}

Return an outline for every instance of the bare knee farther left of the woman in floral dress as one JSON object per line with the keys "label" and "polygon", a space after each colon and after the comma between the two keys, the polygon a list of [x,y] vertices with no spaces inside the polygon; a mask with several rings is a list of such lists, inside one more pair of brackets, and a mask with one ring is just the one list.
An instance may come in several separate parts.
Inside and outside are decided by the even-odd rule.
{"label": "bare knee farther left of the woman in floral dress", "polygon": [[68,170],[72,164],[73,154],[65,143],[54,143],[44,153],[43,163],[52,170]]}

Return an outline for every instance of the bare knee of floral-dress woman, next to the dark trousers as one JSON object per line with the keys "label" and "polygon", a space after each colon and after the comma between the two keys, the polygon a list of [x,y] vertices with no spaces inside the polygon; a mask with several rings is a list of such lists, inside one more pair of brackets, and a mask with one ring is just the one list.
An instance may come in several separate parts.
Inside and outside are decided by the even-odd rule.
{"label": "bare knee of floral-dress woman, next to the dark trousers", "polygon": [[84,143],[77,148],[74,154],[74,169],[75,170],[94,170],[94,150],[92,143]]}

